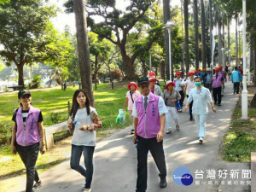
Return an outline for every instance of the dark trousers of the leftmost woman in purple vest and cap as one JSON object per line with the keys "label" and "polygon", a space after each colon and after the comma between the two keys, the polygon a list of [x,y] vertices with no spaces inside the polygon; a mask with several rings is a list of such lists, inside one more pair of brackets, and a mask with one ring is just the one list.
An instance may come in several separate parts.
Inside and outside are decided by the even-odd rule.
{"label": "dark trousers of the leftmost woman in purple vest and cap", "polygon": [[35,167],[38,160],[39,143],[26,147],[16,144],[16,149],[20,159],[26,166],[26,192],[32,192],[34,181],[39,181],[38,172]]}

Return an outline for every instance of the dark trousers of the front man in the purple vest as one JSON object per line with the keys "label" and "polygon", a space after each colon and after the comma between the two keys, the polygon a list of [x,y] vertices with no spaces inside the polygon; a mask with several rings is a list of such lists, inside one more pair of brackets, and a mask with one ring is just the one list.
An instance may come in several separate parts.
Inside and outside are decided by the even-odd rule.
{"label": "dark trousers of the front man in the purple vest", "polygon": [[159,177],[166,177],[166,159],[163,142],[158,143],[156,137],[145,139],[137,136],[137,192],[145,192],[147,189],[147,160],[148,150],[154,158],[154,162],[160,172]]}

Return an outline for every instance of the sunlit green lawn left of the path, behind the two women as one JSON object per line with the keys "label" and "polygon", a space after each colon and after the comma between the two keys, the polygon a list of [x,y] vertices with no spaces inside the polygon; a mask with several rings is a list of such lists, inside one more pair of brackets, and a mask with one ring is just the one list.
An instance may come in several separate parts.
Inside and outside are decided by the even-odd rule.
{"label": "sunlit green lawn left of the path, behind the two women", "polygon": [[[73,92],[77,89],[78,87],[68,86],[66,91],[61,90],[60,87],[31,90],[32,105],[35,108],[41,109],[44,116],[44,126],[54,125],[55,123],[67,120],[67,101],[72,102]],[[128,116],[124,125],[115,123],[119,108],[124,106],[126,91],[126,83],[114,84],[114,90],[110,89],[109,84],[99,84],[97,86],[97,90],[94,91],[96,111],[103,125],[102,130],[97,131],[97,137],[106,137],[109,134],[108,130],[118,130],[131,125],[131,119]],[[10,137],[13,125],[11,118],[15,108],[19,108],[17,101],[16,92],[0,96],[1,125],[7,126],[8,129],[8,131],[0,132],[0,138],[7,137],[9,139]],[[126,114],[128,113],[126,112]],[[0,149],[0,167],[5,167],[0,170],[0,177],[24,173],[24,166],[21,163],[20,157],[11,154],[9,145],[2,145]],[[51,150],[44,155],[39,154],[37,161],[38,172],[59,164],[65,158],[64,154],[54,154],[54,151]]]}

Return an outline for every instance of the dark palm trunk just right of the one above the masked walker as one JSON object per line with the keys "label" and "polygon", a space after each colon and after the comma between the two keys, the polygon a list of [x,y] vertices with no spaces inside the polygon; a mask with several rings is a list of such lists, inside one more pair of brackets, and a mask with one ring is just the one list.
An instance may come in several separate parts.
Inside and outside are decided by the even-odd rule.
{"label": "dark palm trunk just right of the one above the masked walker", "polygon": [[205,4],[201,0],[201,61],[202,68],[207,67],[206,13]]}

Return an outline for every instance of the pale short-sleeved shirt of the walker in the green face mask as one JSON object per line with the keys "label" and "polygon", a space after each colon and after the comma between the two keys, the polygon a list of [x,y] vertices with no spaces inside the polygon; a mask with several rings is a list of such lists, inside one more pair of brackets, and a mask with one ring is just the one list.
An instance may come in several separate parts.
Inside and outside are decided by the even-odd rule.
{"label": "pale short-sleeved shirt of the walker in the green face mask", "polygon": [[207,102],[212,102],[210,90],[201,87],[200,90],[193,88],[190,90],[188,102],[193,101],[192,113],[193,114],[207,114]]}

